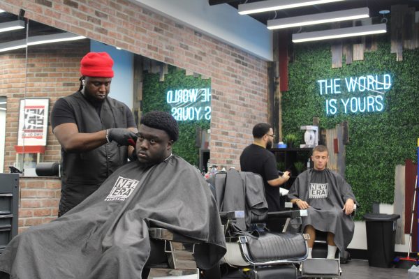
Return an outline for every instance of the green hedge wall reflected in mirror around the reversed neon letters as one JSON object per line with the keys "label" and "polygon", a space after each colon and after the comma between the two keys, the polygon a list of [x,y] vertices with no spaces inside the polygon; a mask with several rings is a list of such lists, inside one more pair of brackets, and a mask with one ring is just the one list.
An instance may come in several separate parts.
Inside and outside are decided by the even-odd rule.
{"label": "green hedge wall reflected in mirror around the reversed neon letters", "polygon": [[[159,81],[159,74],[145,73],[142,86],[142,112],[160,110],[170,112],[166,103],[166,92],[169,89],[189,89],[211,87],[210,80],[201,77],[186,76],[185,70],[169,66],[164,81]],[[179,140],[173,145],[173,153],[181,156],[191,165],[199,165],[199,147],[196,147],[196,128],[210,128],[210,121],[178,121]]]}

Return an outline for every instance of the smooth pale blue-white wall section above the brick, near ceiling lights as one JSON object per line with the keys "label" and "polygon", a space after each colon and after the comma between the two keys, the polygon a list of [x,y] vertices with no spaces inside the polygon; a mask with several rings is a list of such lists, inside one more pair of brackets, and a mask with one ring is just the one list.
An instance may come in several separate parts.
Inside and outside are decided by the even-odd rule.
{"label": "smooth pale blue-white wall section above the brick, near ceiling lights", "polygon": [[272,31],[228,4],[208,0],[131,0],[265,61],[273,59]]}

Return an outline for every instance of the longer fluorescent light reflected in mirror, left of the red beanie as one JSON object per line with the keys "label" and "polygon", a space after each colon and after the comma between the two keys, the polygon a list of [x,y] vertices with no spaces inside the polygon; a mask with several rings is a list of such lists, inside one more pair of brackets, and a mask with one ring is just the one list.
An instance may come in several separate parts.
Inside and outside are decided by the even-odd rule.
{"label": "longer fluorescent light reflected in mirror, left of the red beanie", "polygon": [[41,45],[45,43],[57,43],[64,42],[68,40],[81,40],[86,37],[78,36],[73,33],[56,33],[51,35],[43,36],[34,36],[28,38],[28,43],[26,39],[23,40],[13,40],[11,42],[0,43],[0,52],[7,52],[8,50],[17,50],[20,48],[27,47],[27,45]]}

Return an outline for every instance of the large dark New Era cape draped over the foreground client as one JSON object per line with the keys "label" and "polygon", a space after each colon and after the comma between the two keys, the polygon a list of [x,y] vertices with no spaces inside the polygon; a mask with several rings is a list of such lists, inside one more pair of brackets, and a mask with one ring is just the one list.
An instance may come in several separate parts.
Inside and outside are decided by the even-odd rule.
{"label": "large dark New Era cape draped over the foreground client", "polygon": [[17,235],[0,255],[0,271],[12,279],[141,278],[149,227],[204,241],[194,254],[203,269],[226,252],[209,186],[195,167],[171,156],[152,167],[120,167],[61,218]]}

